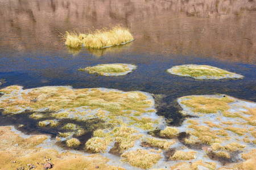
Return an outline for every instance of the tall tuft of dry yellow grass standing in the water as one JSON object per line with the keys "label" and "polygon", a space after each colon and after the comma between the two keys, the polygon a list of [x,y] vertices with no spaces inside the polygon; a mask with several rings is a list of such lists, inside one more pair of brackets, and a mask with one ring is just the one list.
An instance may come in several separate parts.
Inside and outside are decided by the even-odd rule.
{"label": "tall tuft of dry yellow grass standing in the water", "polygon": [[110,29],[96,29],[96,31],[88,34],[66,31],[63,37],[66,40],[65,45],[72,48],[79,48],[84,45],[88,48],[95,49],[119,45],[134,40],[129,29],[121,27],[120,25]]}

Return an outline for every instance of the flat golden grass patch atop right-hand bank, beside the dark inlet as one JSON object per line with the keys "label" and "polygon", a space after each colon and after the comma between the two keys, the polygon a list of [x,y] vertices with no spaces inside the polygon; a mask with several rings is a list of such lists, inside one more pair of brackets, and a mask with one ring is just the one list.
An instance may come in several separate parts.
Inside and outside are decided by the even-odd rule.
{"label": "flat golden grass patch atop right-hand bank, beside the dark inlet", "polygon": [[230,109],[228,103],[233,102],[229,97],[213,98],[204,96],[185,97],[180,103],[187,107],[193,108],[193,112],[197,113],[217,113],[217,111],[227,111]]}

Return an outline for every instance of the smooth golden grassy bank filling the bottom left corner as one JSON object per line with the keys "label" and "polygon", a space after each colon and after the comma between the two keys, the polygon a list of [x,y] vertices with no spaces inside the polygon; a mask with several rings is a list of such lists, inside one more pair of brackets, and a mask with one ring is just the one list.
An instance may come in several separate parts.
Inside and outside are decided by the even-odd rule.
{"label": "smooth golden grassy bank filling the bottom left corner", "polygon": [[[98,154],[91,156],[82,156],[80,154],[72,154],[71,152],[63,152],[59,154],[57,150],[44,149],[36,147],[42,143],[47,137],[45,135],[36,135],[30,138],[21,138],[18,134],[11,131],[10,127],[0,127],[0,155],[1,169],[29,169],[27,164],[36,165],[35,169],[44,169],[43,165],[46,159],[51,158],[54,164],[52,170],[63,169],[96,169],[98,165],[100,169],[106,170],[124,170],[124,168],[109,165],[109,159]],[[18,146],[14,146],[18,143]],[[14,163],[15,162],[15,163]]]}

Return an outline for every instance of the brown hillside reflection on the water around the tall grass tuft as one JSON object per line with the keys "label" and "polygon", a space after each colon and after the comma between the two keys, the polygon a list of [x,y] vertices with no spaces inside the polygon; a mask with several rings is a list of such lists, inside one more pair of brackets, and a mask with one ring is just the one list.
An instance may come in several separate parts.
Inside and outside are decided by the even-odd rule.
{"label": "brown hillside reflection on the water around the tall grass tuft", "polygon": [[[83,32],[122,24],[137,40],[132,52],[255,62],[255,10],[250,0],[1,1],[0,45],[19,52],[64,50],[55,29]],[[96,56],[105,52],[93,50]]]}

